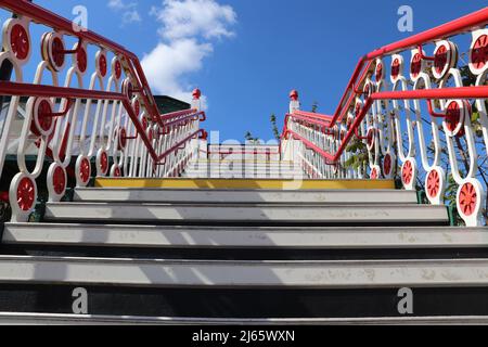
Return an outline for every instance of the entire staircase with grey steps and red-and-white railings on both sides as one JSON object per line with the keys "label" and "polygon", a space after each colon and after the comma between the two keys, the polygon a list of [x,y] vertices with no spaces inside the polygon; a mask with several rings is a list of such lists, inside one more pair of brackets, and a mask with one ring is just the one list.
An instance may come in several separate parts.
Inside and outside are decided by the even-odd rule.
{"label": "entire staircase with grey steps and red-and-white railings on both sides", "polygon": [[332,115],[292,91],[279,144],[241,146],[208,143],[200,89],[159,110],[123,44],[0,8],[0,323],[488,324],[488,9],[363,55]]}

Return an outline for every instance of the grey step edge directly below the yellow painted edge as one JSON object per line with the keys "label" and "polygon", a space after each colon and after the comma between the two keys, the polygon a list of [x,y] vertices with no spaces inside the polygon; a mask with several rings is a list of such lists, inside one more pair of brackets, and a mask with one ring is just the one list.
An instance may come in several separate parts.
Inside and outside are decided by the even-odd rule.
{"label": "grey step edge directly below the yellow painted edge", "polygon": [[176,190],[76,189],[75,202],[119,203],[272,203],[272,204],[416,204],[416,193],[395,190]]}

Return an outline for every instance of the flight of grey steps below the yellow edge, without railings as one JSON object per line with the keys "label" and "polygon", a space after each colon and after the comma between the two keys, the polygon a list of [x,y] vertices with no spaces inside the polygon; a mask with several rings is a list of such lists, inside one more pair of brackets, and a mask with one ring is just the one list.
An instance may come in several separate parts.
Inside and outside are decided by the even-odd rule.
{"label": "flight of grey steps below the yellow edge, without railings", "polygon": [[[7,223],[0,322],[487,322],[486,229],[450,228],[445,206],[372,181],[363,190],[258,181],[76,189],[73,202],[47,204],[43,222]],[[89,316],[74,314],[79,287]],[[413,314],[398,311],[403,287]]]}

